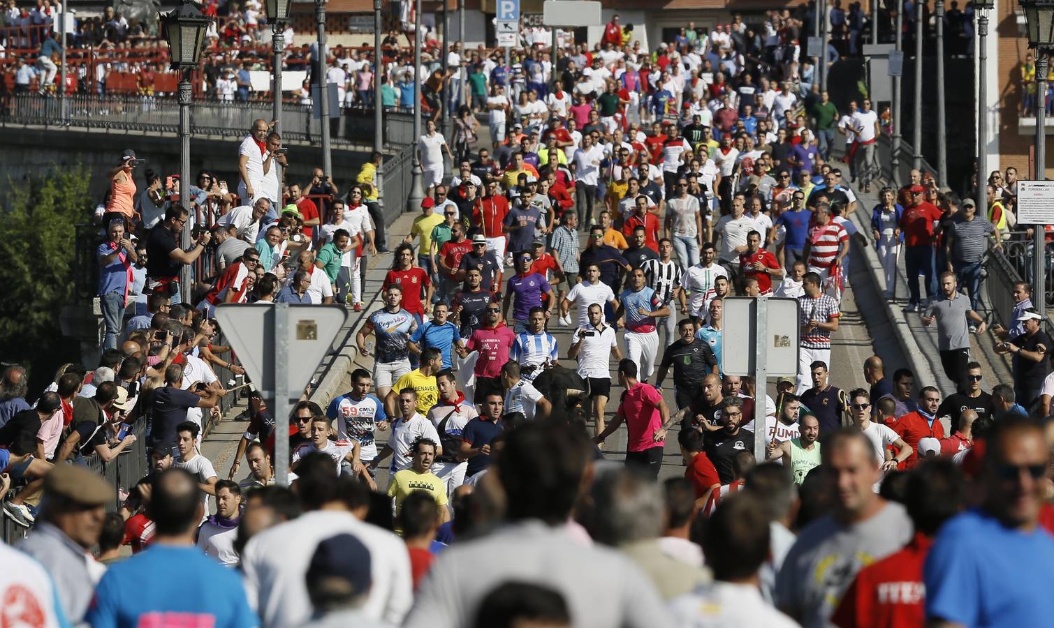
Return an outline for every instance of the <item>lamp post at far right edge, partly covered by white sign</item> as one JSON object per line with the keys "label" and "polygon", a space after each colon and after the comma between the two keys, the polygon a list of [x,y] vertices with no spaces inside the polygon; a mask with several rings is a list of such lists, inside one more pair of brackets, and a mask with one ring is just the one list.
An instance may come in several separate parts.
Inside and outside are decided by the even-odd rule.
{"label": "lamp post at far right edge, partly covered by white sign", "polygon": [[[1029,47],[1036,51],[1036,174],[1035,179],[1047,179],[1047,72],[1048,53],[1054,48],[1054,0],[1020,0],[1029,33]],[[980,173],[978,173],[980,174]],[[1035,281],[1032,303],[1039,316],[1047,317],[1047,230],[1043,224],[1033,228],[1032,260],[1035,263]]]}

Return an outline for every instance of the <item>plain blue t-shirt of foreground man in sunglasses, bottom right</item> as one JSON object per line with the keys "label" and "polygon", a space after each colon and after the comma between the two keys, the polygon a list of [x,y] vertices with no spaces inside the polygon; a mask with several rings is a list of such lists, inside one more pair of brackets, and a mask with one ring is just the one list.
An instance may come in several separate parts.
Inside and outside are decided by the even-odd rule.
{"label": "plain blue t-shirt of foreground man in sunglasses, bottom right", "polygon": [[969,510],[940,529],[923,580],[929,617],[963,626],[1050,626],[1054,538],[1042,528],[1020,532]]}

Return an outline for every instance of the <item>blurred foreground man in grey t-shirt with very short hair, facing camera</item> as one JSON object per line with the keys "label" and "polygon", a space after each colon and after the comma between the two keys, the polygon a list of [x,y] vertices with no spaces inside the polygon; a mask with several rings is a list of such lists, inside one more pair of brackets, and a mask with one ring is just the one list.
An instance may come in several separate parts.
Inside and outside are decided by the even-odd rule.
{"label": "blurred foreground man in grey t-shirt with very short hair, facing camera", "polygon": [[821,453],[818,472],[834,496],[833,511],[801,531],[776,580],[777,606],[803,626],[828,625],[857,572],[912,538],[904,507],[872,491],[881,471],[871,441],[859,429],[832,433]]}

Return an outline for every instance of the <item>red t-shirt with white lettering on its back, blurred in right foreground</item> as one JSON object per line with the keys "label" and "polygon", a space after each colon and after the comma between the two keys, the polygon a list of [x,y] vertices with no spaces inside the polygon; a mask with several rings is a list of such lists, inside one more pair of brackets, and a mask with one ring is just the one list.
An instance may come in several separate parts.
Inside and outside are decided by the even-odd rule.
{"label": "red t-shirt with white lettering on its back, blurred in right foreground", "polygon": [[922,565],[931,545],[933,539],[916,532],[904,549],[861,569],[831,622],[840,628],[924,626]]}

